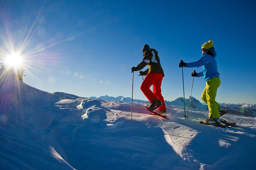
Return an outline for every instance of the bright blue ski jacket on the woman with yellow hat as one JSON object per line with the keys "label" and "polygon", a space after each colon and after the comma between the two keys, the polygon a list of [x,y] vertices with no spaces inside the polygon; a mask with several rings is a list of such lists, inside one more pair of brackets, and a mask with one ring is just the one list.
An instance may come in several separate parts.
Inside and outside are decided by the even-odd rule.
{"label": "bright blue ski jacket on the woman with yellow hat", "polygon": [[210,48],[207,53],[208,54],[203,53],[203,57],[200,60],[186,64],[186,67],[189,68],[203,66],[204,71],[198,73],[197,77],[204,76],[205,81],[220,75],[218,73],[217,62],[215,59],[217,56],[216,51],[214,48]]}

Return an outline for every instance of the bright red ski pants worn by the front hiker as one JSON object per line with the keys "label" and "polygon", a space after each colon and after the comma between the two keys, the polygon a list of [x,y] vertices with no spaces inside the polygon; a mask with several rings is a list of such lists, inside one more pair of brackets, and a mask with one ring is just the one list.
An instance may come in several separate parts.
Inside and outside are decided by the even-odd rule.
{"label": "bright red ski pants worn by the front hiker", "polygon": [[[163,106],[159,107],[158,110],[166,110],[164,103],[164,97],[161,94],[161,84],[163,80],[163,74],[160,73],[148,73],[141,84],[141,91],[151,103],[155,98],[158,98]],[[150,87],[153,85],[153,92]]]}

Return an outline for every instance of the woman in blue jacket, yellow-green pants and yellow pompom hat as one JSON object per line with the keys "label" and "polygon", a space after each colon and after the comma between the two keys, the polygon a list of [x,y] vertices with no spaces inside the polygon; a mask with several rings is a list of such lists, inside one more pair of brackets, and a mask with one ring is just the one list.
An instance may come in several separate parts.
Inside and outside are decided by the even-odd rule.
{"label": "woman in blue jacket, yellow-green pants and yellow pompom hat", "polygon": [[213,41],[210,40],[202,45],[203,57],[191,63],[185,63],[181,61],[179,67],[201,67],[203,66],[203,72],[192,73],[193,77],[204,76],[206,81],[206,87],[202,93],[202,100],[208,105],[209,108],[209,124],[220,124],[219,108],[220,105],[215,101],[217,89],[220,86],[220,77],[217,69],[217,62],[215,60],[217,54],[213,48]]}

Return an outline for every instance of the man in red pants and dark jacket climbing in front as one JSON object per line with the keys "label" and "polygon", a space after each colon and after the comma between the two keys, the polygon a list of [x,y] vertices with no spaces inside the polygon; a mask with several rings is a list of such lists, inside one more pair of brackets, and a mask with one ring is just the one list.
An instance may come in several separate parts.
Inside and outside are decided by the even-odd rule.
{"label": "man in red pants and dark jacket climbing in front", "polygon": [[[161,94],[161,84],[164,77],[164,71],[160,64],[158,52],[155,49],[150,49],[147,44],[144,45],[142,52],[144,54],[142,62],[137,67],[133,67],[131,71],[139,71],[145,66],[148,66],[148,69],[144,72],[140,71],[140,75],[146,75],[141,84],[141,91],[151,103],[148,109],[153,111],[158,108],[157,113],[166,116],[164,97]],[[150,90],[152,85],[153,92]]]}

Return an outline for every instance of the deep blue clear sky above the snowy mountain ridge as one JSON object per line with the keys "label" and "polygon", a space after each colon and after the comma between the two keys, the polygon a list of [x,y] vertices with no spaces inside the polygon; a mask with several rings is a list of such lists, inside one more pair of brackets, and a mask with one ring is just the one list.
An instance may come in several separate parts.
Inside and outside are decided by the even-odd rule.
{"label": "deep blue clear sky above the snowy mountain ridge", "polygon": [[[210,39],[217,52],[219,103],[256,103],[256,1],[0,1],[1,60],[19,51],[24,82],[48,92],[131,97],[131,67],[144,44],[158,51],[165,100],[183,96],[180,60],[201,58]],[[0,60],[0,61],[1,61]],[[146,67],[143,69],[146,70]],[[185,98],[191,72],[184,68]],[[134,73],[133,98],[146,100]],[[201,100],[203,77],[192,96]]]}

